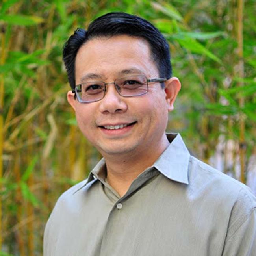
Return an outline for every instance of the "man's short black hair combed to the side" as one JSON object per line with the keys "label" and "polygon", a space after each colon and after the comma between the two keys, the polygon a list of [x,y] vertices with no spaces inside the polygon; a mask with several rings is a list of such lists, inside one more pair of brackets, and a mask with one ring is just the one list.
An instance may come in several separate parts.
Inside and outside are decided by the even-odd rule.
{"label": "man's short black hair combed to the side", "polygon": [[78,49],[94,37],[129,35],[145,39],[151,50],[151,58],[156,63],[159,76],[171,77],[170,49],[161,32],[150,22],[128,13],[107,13],[95,19],[88,30],[78,28],[63,47],[63,61],[67,70],[69,84],[75,87],[75,59]]}

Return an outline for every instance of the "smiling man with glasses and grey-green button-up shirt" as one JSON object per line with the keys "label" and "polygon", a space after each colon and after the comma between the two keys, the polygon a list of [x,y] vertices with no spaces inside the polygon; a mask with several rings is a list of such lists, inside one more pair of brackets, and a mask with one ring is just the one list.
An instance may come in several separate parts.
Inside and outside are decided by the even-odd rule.
{"label": "smiling man with glasses and grey-green button-up shirt", "polygon": [[104,157],[59,198],[45,256],[256,255],[256,198],[165,134],[180,90],[149,22],[108,13],[63,50],[67,100]]}

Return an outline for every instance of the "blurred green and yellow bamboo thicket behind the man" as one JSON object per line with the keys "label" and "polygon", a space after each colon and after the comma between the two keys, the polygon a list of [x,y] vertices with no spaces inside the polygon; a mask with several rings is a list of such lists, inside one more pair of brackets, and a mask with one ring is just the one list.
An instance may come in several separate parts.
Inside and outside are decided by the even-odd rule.
{"label": "blurred green and yellow bamboo thicket behind the man", "polygon": [[61,52],[77,27],[108,11],[156,25],[182,91],[168,131],[191,153],[256,191],[253,0],[0,0],[0,256],[42,255],[57,198],[100,155],[65,94]]}

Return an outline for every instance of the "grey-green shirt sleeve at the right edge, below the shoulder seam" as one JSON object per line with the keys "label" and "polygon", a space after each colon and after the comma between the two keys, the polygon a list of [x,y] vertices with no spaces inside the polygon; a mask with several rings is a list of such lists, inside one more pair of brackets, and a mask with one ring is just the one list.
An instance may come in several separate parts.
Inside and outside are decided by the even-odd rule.
{"label": "grey-green shirt sleeve at the right edge, below the shoulder seam", "polygon": [[230,216],[223,256],[256,256],[256,198],[244,189]]}

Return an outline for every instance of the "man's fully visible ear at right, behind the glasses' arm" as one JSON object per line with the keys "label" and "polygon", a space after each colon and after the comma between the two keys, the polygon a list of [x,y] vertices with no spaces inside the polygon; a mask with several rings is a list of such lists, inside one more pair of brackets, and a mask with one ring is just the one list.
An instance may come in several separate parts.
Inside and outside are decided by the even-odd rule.
{"label": "man's fully visible ear at right, behind the glasses' arm", "polygon": [[172,77],[165,82],[165,94],[168,104],[168,111],[173,111],[173,105],[178,95],[178,92],[180,91],[180,87],[180,80],[178,80],[178,78],[176,77]]}

